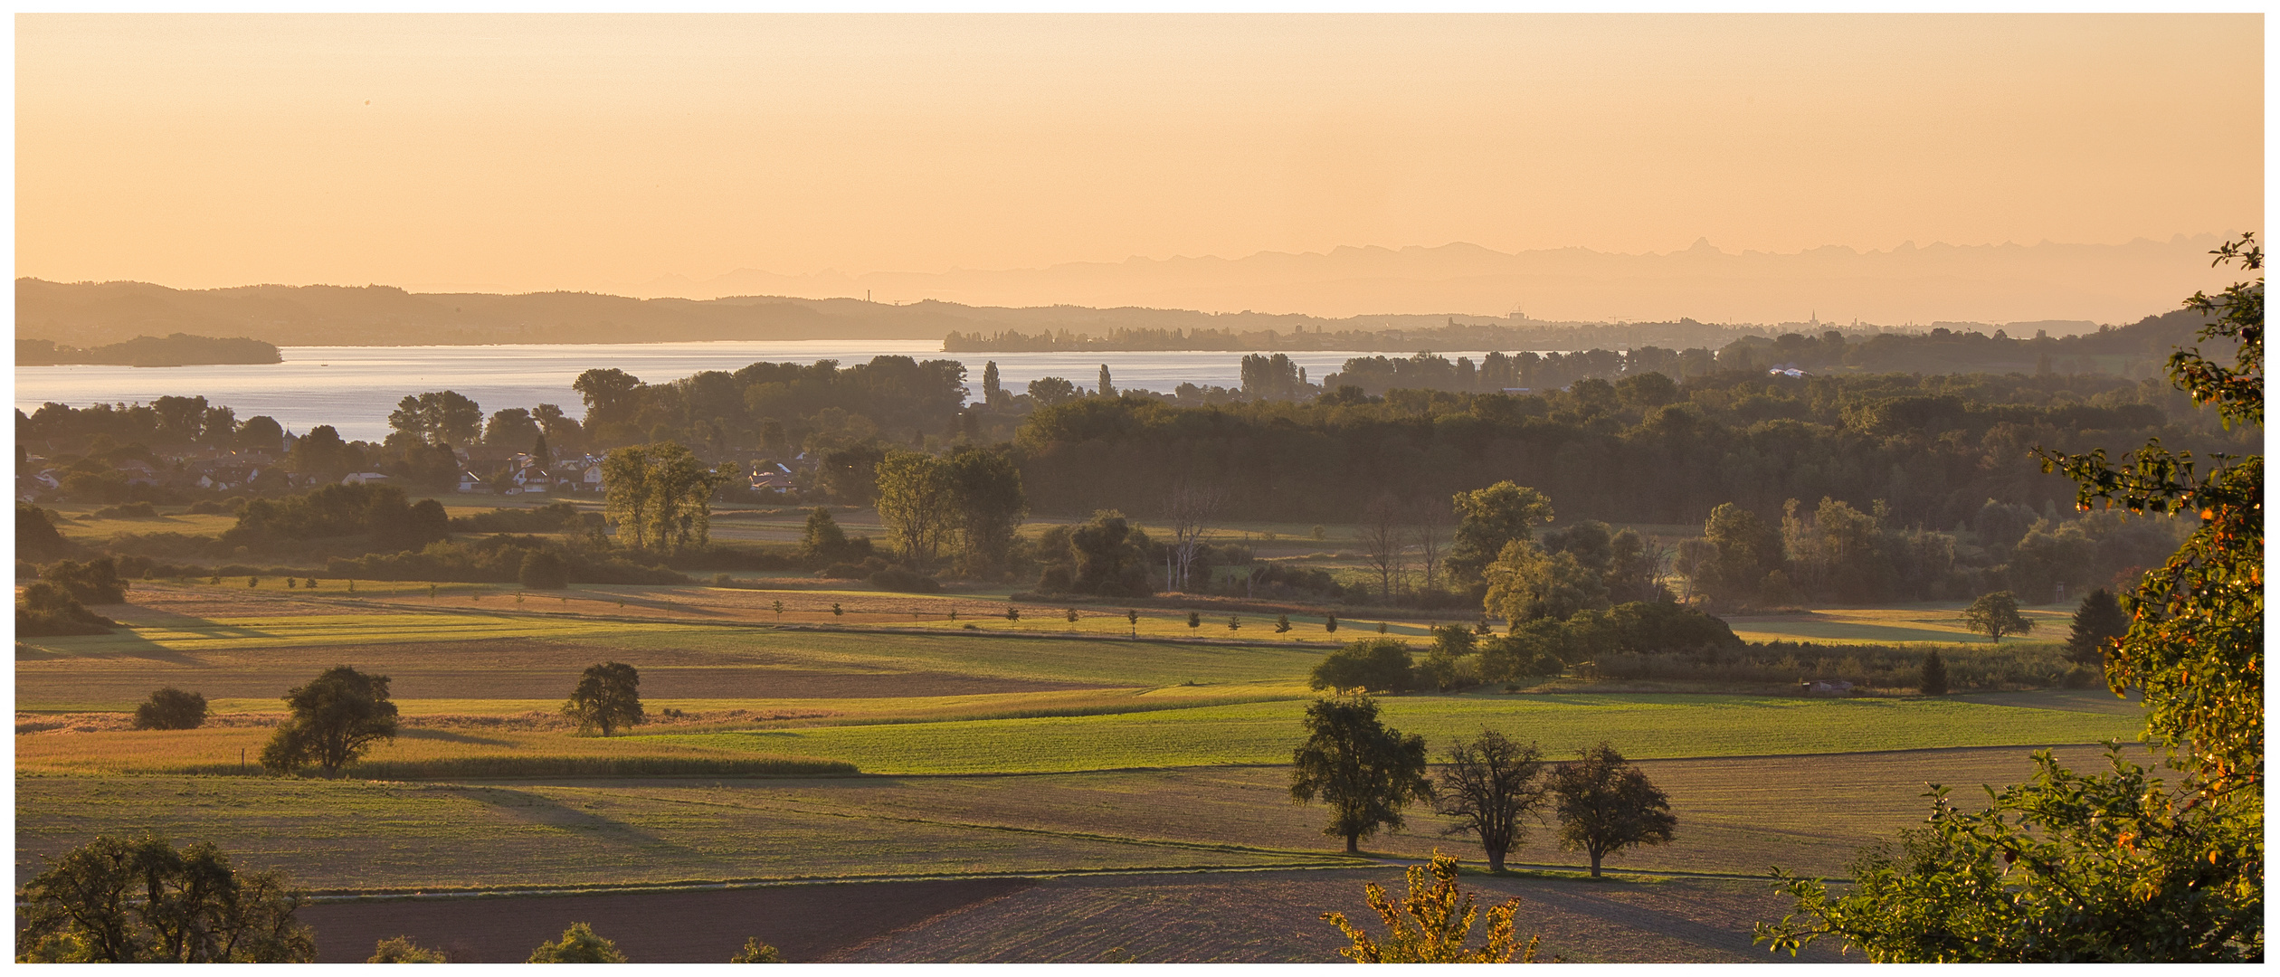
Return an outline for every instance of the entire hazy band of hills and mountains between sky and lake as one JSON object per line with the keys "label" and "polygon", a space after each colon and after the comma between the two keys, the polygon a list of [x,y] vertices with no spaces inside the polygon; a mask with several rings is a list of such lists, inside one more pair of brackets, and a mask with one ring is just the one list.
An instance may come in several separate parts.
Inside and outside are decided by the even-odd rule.
{"label": "entire hazy band of hills and mountains between sky and lake", "polygon": [[[673,287],[689,296],[415,294],[385,285],[169,289],[18,278],[16,337],[100,346],[189,332],[278,346],[415,346],[1275,330],[1389,337],[1373,339],[1382,344],[1370,348],[1402,351],[1414,346],[1402,339],[1404,332],[1446,326],[1564,328],[1562,335],[1573,342],[1582,339],[1573,328],[1580,323],[1683,319],[1694,319],[1687,326],[1696,328],[1737,326],[1733,332],[1826,328],[1835,321],[1913,330],[2025,321],[2068,335],[2173,310],[2196,289],[2214,292],[2225,282],[2207,262],[2218,241],[2202,235],[2120,246],[1936,244],[1794,255],[1721,253],[1708,241],[1667,255],[1585,248],[1505,255],[1450,244],[1243,260],[1135,257],[939,276],[787,278],[739,271],[709,282],[650,282],[652,289]],[[830,298],[860,287],[878,301]],[[789,298],[796,294],[823,298]]]}

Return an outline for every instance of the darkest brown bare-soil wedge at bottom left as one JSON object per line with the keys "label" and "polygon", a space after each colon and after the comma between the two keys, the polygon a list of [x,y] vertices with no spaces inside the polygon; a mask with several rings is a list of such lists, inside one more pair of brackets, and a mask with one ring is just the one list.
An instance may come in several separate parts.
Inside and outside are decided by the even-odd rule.
{"label": "darkest brown bare-soil wedge at bottom left", "polygon": [[319,963],[363,963],[390,936],[442,950],[451,963],[522,963],[572,922],[634,963],[725,963],[748,936],[787,961],[821,961],[862,941],[1001,900],[1031,879],[850,881],[727,890],[536,895],[481,900],[331,902],[301,911]]}

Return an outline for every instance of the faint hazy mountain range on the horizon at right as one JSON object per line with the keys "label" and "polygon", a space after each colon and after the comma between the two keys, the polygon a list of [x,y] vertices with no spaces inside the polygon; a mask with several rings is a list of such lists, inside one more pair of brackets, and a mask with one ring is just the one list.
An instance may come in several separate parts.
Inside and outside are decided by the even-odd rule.
{"label": "faint hazy mountain range on the horizon at right", "polygon": [[[2130,244],[1902,244],[1890,251],[1826,246],[1801,253],[1715,248],[1671,253],[1589,248],[1500,253],[1439,248],[1334,248],[1249,257],[1131,257],[1044,269],[942,273],[873,271],[780,276],[755,269],[625,285],[629,296],[716,298],[873,296],[964,305],[1088,305],[1202,312],[1286,312],[1368,319],[1382,312],[1528,312],[1550,321],[1783,323],[1874,321],[2098,321],[2123,323],[2175,307],[2212,287],[2209,248],[2221,235]],[[1370,323],[1357,323],[1370,326]],[[1384,323],[1391,326],[1391,323]]]}

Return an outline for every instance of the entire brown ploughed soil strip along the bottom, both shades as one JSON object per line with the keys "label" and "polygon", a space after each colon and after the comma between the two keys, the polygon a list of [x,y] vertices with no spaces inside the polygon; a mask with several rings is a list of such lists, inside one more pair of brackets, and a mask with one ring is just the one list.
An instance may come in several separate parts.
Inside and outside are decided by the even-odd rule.
{"label": "entire brown ploughed soil strip along the bottom, both shades", "polygon": [[[793,963],[1343,963],[1341,911],[1382,931],[1366,884],[1402,890],[1400,868],[1147,872],[1053,879],[800,884],[736,890],[385,900],[310,906],[319,961],[353,963],[390,936],[454,963],[513,963],[588,922],[636,963],[718,963],[748,936]],[[1788,902],[1740,879],[1477,877],[1484,904],[1518,897],[1539,959],[1573,963],[1772,963],[1753,922]],[[1477,929],[1475,929],[1477,938]],[[1803,961],[1838,961],[1813,947]],[[1854,957],[1858,959],[1858,957]]]}

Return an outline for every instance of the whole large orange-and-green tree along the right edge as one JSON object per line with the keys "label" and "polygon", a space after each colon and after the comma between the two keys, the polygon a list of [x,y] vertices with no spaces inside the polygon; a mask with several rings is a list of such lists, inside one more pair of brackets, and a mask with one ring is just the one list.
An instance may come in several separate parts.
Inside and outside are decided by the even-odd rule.
{"label": "whole large orange-and-green tree along the right edge", "polygon": [[[2253,237],[2218,264],[2264,266]],[[2234,364],[2171,355],[2171,380],[2230,424],[2264,424],[2264,282],[2193,294],[2200,339]],[[2077,483],[2075,503],[2198,512],[2200,526],[2125,601],[2107,685],[2143,692],[2145,740],[2184,777],[2166,783],[2109,747],[2111,772],[2075,774],[2045,752],[2031,783],[1988,788],[1963,813],[1933,788],[1931,822],[1854,865],[1849,893],[1783,872],[1797,911],[1758,925],[1792,954],[1838,938],[1872,961],[2262,961],[2264,959],[2264,458],[2202,469],[2159,442],[2111,467],[2104,451],[2036,449]]]}

